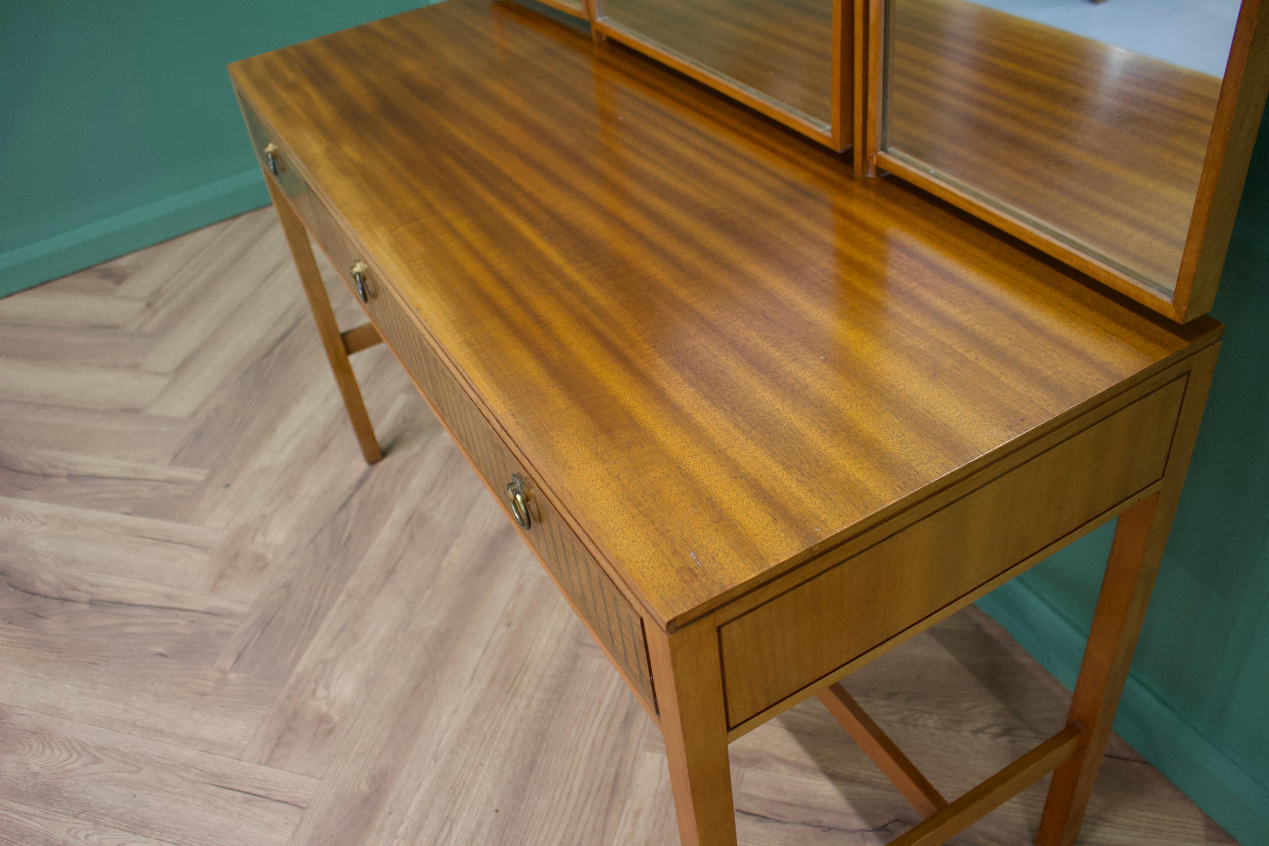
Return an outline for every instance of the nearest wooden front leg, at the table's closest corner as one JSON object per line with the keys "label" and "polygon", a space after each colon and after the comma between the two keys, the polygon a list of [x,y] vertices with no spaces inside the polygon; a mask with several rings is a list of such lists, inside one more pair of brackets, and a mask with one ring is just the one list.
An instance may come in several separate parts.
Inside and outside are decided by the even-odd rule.
{"label": "nearest wooden front leg, at the table's closest corner", "polygon": [[652,684],[683,846],[736,846],[727,713],[713,625],[648,627]]}

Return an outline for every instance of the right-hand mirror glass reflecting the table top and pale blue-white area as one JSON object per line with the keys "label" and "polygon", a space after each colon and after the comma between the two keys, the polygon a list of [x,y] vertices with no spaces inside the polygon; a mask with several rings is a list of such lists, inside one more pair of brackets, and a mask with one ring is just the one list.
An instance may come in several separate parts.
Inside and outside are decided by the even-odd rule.
{"label": "right-hand mirror glass reflecting the table top and pale blue-white area", "polygon": [[882,150],[1170,292],[1239,0],[890,0]]}

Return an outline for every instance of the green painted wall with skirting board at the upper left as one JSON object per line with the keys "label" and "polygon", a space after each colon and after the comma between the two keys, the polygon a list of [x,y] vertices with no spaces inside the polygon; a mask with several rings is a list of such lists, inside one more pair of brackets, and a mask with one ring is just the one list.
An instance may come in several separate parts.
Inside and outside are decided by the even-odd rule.
{"label": "green painted wall with skirting board at the upper left", "polygon": [[225,66],[428,1],[0,1],[0,296],[265,205]]}

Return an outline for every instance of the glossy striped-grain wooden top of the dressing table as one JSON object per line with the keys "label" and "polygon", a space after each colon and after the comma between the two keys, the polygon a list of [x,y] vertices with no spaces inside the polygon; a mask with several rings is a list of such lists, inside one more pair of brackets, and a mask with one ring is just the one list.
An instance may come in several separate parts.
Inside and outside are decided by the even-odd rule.
{"label": "glossy striped-grain wooden top of the dressing table", "polygon": [[664,625],[1220,332],[515,5],[231,74]]}

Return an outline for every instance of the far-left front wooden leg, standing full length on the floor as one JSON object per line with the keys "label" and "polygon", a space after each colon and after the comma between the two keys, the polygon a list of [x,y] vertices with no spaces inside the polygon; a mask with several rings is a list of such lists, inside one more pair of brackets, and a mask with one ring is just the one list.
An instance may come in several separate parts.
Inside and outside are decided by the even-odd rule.
{"label": "far-left front wooden leg, standing full length on the floor", "polygon": [[273,208],[278,211],[282,221],[282,231],[287,235],[287,244],[291,246],[291,257],[299,271],[299,280],[305,285],[305,294],[308,297],[308,308],[312,309],[313,321],[317,323],[317,334],[321,344],[326,348],[326,359],[330,369],[335,374],[339,392],[344,396],[344,407],[348,410],[348,420],[353,424],[353,433],[357,443],[362,446],[362,455],[367,464],[373,464],[383,454],[379,452],[379,441],[374,438],[374,426],[371,416],[365,413],[365,403],[362,401],[362,391],[357,387],[357,377],[353,374],[353,363],[348,360],[348,351],[344,339],[339,335],[339,323],[335,322],[335,312],[330,307],[330,298],[326,296],[326,287],[322,284],[321,273],[317,270],[317,261],[313,259],[312,247],[308,244],[308,233],[296,211],[291,208],[291,200],[282,193],[273,176],[265,171],[264,181],[269,185],[269,197],[273,198]]}

